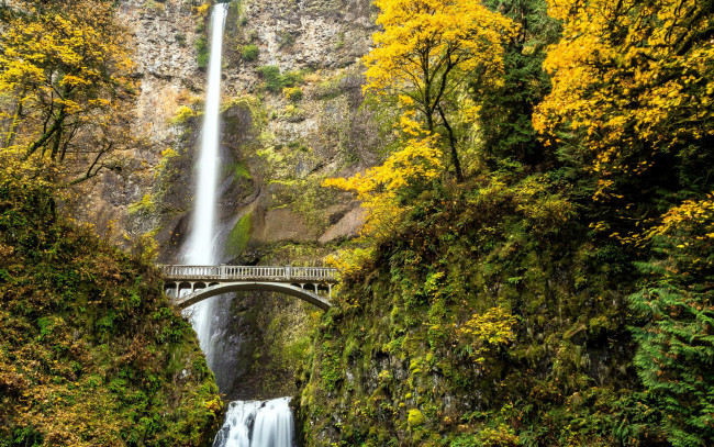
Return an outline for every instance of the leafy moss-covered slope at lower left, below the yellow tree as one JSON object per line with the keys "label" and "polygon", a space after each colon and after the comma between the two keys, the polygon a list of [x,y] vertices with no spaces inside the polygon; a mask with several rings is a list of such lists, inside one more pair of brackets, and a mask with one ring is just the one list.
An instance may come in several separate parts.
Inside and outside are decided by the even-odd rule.
{"label": "leafy moss-covered slope at lower left, below the yellow tree", "polygon": [[221,401],[147,265],[0,187],[0,446],[200,446]]}

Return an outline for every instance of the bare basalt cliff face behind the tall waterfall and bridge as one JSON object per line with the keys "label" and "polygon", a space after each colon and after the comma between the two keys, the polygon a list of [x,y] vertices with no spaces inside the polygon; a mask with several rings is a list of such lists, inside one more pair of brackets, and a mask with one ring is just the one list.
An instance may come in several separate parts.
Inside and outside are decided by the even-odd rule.
{"label": "bare basalt cliff face behind the tall waterfall and bridge", "polygon": [[[376,31],[369,0],[244,0],[224,36],[217,243],[225,264],[313,264],[354,237],[364,213],[322,188],[379,161],[375,112],[362,107],[362,67]],[[147,143],[120,171],[87,186],[77,214],[119,244],[150,236],[160,262],[180,262],[190,232],[201,139],[210,8],[200,1],[126,0],[137,91],[133,133]],[[146,241],[146,237],[143,238]],[[266,293],[220,299],[213,365],[228,396],[295,392],[293,364],[314,310]],[[270,333],[268,333],[270,332]]]}

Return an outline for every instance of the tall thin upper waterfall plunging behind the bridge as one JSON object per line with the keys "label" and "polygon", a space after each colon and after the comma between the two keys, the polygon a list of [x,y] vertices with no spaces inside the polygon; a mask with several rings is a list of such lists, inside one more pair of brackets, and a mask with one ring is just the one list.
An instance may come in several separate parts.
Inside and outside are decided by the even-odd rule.
{"label": "tall thin upper waterfall plunging behind the bridge", "polygon": [[[193,266],[211,266],[216,262],[215,255],[215,205],[217,174],[220,164],[221,65],[223,53],[223,29],[228,11],[227,3],[219,3],[211,16],[211,56],[209,65],[209,86],[205,97],[201,154],[198,163],[198,188],[194,198],[193,226],[188,239],[185,262]],[[191,323],[198,334],[205,360],[213,364],[213,343],[211,342],[211,300],[202,301],[191,309]]]}

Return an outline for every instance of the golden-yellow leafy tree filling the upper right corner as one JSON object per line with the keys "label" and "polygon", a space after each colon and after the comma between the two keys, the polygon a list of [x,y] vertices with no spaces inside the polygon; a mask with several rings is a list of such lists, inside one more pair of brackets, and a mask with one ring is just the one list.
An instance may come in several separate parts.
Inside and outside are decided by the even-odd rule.
{"label": "golden-yellow leafy tree filling the upper right corner", "polygon": [[548,4],[564,32],[544,65],[553,91],[534,115],[546,143],[582,142],[594,198],[620,209],[637,209],[656,190],[709,192],[714,1]]}

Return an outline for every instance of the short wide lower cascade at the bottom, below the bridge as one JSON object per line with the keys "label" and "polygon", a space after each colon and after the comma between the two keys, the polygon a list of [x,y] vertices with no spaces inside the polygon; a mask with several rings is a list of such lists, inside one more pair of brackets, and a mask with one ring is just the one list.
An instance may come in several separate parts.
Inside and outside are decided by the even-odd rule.
{"label": "short wide lower cascade at the bottom, below the bridge", "polygon": [[235,401],[213,447],[292,447],[290,398],[271,401]]}

